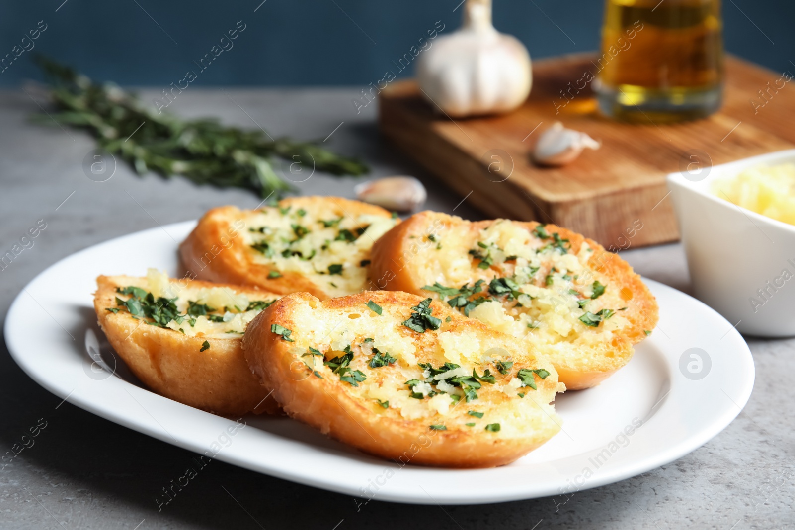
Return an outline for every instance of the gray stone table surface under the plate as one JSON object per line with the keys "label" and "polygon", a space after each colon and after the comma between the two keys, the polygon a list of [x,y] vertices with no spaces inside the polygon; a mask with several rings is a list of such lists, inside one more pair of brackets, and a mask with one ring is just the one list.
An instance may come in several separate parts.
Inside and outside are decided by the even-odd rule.
{"label": "gray stone table surface under the plate", "polygon": [[[322,140],[334,131],[324,145],[361,155],[372,164],[373,176],[416,175],[429,188],[427,207],[479,219],[463,197],[379,137],[375,104],[356,114],[356,92],[194,88],[169,110],[262,126],[273,136]],[[37,220],[47,222],[33,248],[0,272],[3,318],[29,280],[77,250],[196,219],[210,207],[259,203],[247,191],[138,177],[124,164],[111,180],[93,182],[83,173],[83,157],[94,147],[91,137],[55,124],[33,126],[28,117],[38,111],[23,91],[0,93],[0,250],[10,250]],[[318,173],[298,188],[352,197],[355,182]],[[681,246],[622,255],[644,276],[688,291]],[[549,497],[444,507],[372,501],[359,510],[352,497],[214,461],[158,512],[154,498],[184,473],[192,453],[68,402],[59,406],[60,398],[29,379],[0,341],[0,451],[9,451],[41,418],[47,422],[35,445],[0,469],[0,528],[795,528],[795,340],[748,342],[756,365],[754,393],[726,430],[677,462],[581,491],[565,505]]]}

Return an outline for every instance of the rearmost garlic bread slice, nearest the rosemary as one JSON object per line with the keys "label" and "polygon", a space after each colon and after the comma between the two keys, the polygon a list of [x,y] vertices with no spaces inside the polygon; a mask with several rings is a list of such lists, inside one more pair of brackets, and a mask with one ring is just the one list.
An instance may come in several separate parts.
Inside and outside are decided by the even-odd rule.
{"label": "rearmost garlic bread slice, nearest the rosemary", "polygon": [[399,219],[339,197],[291,197],[277,206],[208,211],[180,245],[201,280],[325,299],[367,288],[370,248]]}

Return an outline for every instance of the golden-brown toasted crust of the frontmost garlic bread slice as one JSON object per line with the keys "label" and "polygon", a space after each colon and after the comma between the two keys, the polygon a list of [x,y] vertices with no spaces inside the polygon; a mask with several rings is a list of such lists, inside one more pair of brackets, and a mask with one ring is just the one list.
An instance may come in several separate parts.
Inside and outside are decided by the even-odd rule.
{"label": "golden-brown toasted crust of the frontmost garlic bread slice", "polygon": [[[316,311],[318,319],[325,318],[328,322],[328,315],[345,314],[340,311],[362,313],[369,311],[365,306],[369,300],[381,306],[383,315],[362,315],[361,318],[370,316],[382,319],[378,320],[376,325],[390,327],[396,325],[396,321],[399,324],[401,319],[405,319],[410,312],[407,308],[417,305],[422,298],[405,292],[374,291],[321,302],[308,293],[299,292],[277,301],[250,323],[243,339],[246,359],[254,373],[260,377],[262,384],[273,389],[273,396],[289,416],[370,454],[394,459],[395,462],[428,466],[502,466],[545,443],[559,430],[556,420],[553,420],[554,412],[551,414],[545,412],[545,415],[539,413],[539,416],[543,416],[544,427],[521,435],[502,436],[502,433],[497,435],[494,432],[484,431],[482,424],[476,429],[462,425],[453,426],[450,417],[442,418],[448,420],[450,425],[448,430],[429,430],[428,418],[409,420],[401,416],[401,411],[397,408],[385,409],[374,404],[372,399],[363,399],[363,394],[355,393],[358,388],[353,389],[347,382],[341,381],[320,362],[315,365],[319,373],[313,375],[312,369],[302,360],[307,358],[306,354],[301,355],[300,351],[307,351],[308,346],[316,346],[322,350],[324,345],[304,340],[304,336],[311,334],[312,331],[308,330],[305,322],[297,321],[297,315],[305,314],[305,310],[309,307],[312,308],[313,315]],[[444,320],[439,331],[427,330],[425,333],[417,333],[407,327],[398,328],[401,333],[405,332],[412,337],[413,344],[417,346],[419,361],[430,362],[429,352],[438,350],[440,333],[463,331],[467,335],[479,338],[483,343],[498,341],[514,354],[517,365],[524,363],[522,366],[548,367],[550,372],[549,377],[537,381],[537,390],[527,390],[533,395],[525,400],[519,400],[515,396],[504,397],[503,394],[491,398],[482,396],[480,400],[475,400],[471,404],[463,404],[463,400],[460,400],[463,411],[475,404],[494,408],[512,406],[507,404],[510,399],[514,400],[510,403],[519,400],[522,405],[526,404],[532,408],[531,400],[534,400],[536,405],[547,404],[553,400],[556,391],[564,389],[563,385],[558,384],[556,373],[549,361],[527,354],[526,349],[513,337],[498,333],[474,319],[464,318],[457,311],[451,311],[443,304],[434,302],[431,308],[433,315]],[[339,318],[345,319],[344,316]],[[449,322],[445,320],[447,318],[450,319]],[[294,342],[286,341],[274,334],[271,331],[273,324],[293,330],[290,337],[294,338]],[[376,370],[382,369],[386,368]],[[497,376],[500,377],[499,374]],[[370,377],[378,377],[378,373],[373,370]],[[403,385],[402,379],[400,381]],[[383,382],[381,384],[386,385]],[[487,399],[494,401],[481,403]],[[465,417],[475,420],[473,416]],[[489,412],[486,417],[489,417]]]}

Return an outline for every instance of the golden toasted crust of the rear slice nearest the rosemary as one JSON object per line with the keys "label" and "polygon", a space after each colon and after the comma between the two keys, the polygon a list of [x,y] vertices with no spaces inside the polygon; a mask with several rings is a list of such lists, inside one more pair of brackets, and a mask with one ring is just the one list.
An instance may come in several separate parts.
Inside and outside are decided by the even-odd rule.
{"label": "golden toasted crust of the rear slice nearest the rosemary", "polygon": [[[341,215],[378,215],[391,217],[382,207],[340,197],[290,197],[282,199],[278,207],[304,208],[313,212],[329,203]],[[290,292],[309,292],[324,300],[332,296],[322,286],[303,274],[281,270],[280,277],[269,277],[273,266],[262,265],[250,259],[250,249],[243,242],[242,231],[248,230],[242,220],[246,211],[234,206],[213,208],[199,220],[196,228],[180,244],[180,257],[185,269],[200,280],[257,286],[270,292],[285,295]],[[365,286],[362,285],[361,288]]]}

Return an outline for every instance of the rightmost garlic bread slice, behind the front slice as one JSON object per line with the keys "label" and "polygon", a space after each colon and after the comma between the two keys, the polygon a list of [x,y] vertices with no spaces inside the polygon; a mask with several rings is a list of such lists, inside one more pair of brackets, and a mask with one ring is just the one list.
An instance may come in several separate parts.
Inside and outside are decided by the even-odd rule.
{"label": "rightmost garlic bread slice, behind the front slice", "polygon": [[424,211],[378,240],[378,288],[432,296],[547,355],[567,389],[598,385],[657,325],[630,265],[570,230]]}

